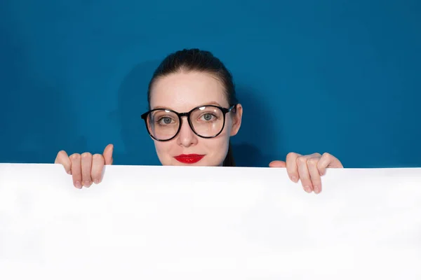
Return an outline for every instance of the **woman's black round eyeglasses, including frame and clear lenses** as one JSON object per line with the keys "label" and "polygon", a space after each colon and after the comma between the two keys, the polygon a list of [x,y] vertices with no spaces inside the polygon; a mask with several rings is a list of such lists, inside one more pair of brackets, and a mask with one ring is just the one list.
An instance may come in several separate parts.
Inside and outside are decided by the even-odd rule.
{"label": "woman's black round eyeglasses, including frame and clear lenses", "polygon": [[154,109],[142,114],[149,135],[156,141],[169,141],[177,136],[182,125],[182,117],[187,117],[190,128],[199,137],[217,137],[225,127],[225,115],[235,109],[215,105],[197,106],[187,113],[170,109]]}

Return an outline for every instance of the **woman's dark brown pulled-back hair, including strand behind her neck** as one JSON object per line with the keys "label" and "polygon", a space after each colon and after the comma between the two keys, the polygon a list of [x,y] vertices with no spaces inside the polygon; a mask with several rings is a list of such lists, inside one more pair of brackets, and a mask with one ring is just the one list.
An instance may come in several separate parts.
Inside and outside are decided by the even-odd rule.
{"label": "woman's dark brown pulled-back hair, including strand behind her neck", "polygon": [[[220,80],[222,85],[225,87],[225,96],[227,97],[229,106],[233,106],[238,103],[236,99],[236,92],[234,82],[232,80],[232,74],[228,71],[225,65],[215,57],[211,52],[199,49],[184,49],[178,50],[177,52],[168,55],[158,68],[154,71],[149,87],[147,90],[147,102],[150,107],[151,101],[151,90],[156,79],[167,76],[171,73],[177,73],[180,70],[185,71],[203,71],[213,74]],[[236,111],[233,110],[235,113]],[[234,167],[234,155],[232,154],[231,141],[229,142],[228,153],[223,162],[225,167]]]}

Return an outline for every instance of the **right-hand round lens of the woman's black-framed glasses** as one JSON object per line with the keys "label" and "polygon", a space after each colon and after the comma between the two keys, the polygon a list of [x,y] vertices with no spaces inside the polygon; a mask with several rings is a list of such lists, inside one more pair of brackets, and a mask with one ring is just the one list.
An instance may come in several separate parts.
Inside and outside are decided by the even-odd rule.
{"label": "right-hand round lens of the woman's black-framed glasses", "polygon": [[214,137],[224,127],[224,114],[213,106],[203,106],[192,112],[190,122],[196,134],[201,137]]}

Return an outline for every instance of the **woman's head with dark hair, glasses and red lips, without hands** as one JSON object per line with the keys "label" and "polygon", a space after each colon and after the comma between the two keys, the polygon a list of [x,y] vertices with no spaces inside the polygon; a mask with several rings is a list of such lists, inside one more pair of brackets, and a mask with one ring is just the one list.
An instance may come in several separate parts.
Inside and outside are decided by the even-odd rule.
{"label": "woman's head with dark hair, glasses and red lips, without hands", "polygon": [[[151,111],[142,117],[162,165],[234,166],[229,137],[239,131],[242,107],[231,73],[212,53],[168,55],[154,72],[147,98]],[[177,113],[189,113],[190,123]]]}

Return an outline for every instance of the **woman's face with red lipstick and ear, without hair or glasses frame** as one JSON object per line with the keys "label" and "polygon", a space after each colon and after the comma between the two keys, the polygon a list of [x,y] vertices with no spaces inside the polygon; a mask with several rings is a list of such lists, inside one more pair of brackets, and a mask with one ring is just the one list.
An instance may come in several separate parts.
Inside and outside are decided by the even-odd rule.
{"label": "woman's face with red lipstick and ear, without hair or glasses frame", "polygon": [[[187,113],[197,106],[216,105],[229,108],[225,88],[220,80],[210,73],[199,71],[180,71],[155,80],[151,90],[151,109],[171,109]],[[209,107],[211,108],[211,107]],[[194,134],[187,117],[182,117],[180,132],[170,141],[154,140],[156,154],[162,165],[222,166],[228,152],[229,137],[234,136],[241,125],[242,108],[226,114],[222,132],[214,138],[204,139]],[[217,118],[210,113],[198,112],[192,122],[203,132],[218,130]],[[222,119],[223,121],[223,119]],[[166,125],[175,127],[177,119],[156,116],[155,127]],[[162,128],[159,128],[162,129]],[[166,130],[170,128],[165,127]]]}

